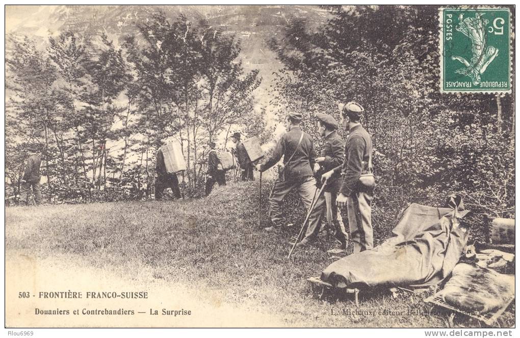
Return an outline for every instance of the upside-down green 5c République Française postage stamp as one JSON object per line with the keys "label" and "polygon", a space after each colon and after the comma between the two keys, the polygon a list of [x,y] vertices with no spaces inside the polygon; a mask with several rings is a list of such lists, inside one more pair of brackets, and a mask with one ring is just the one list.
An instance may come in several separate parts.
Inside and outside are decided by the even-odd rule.
{"label": "upside-down green 5c R\u00e9publique Fran\u00e7aise postage stamp", "polygon": [[511,92],[508,8],[439,9],[441,92]]}

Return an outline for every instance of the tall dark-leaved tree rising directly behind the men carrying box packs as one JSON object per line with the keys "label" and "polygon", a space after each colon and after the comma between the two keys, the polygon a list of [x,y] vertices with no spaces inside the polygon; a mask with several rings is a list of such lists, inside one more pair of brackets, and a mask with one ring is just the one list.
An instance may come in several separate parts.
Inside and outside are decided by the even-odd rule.
{"label": "tall dark-leaved tree rising directly behind the men carrying box packs", "polygon": [[204,168],[206,141],[214,140],[253,111],[258,72],[244,74],[240,43],[233,36],[180,16],[170,23],[159,14],[138,26],[144,44],[126,39],[128,60],[140,88],[139,126],[148,144],[177,138],[187,158],[189,190]]}

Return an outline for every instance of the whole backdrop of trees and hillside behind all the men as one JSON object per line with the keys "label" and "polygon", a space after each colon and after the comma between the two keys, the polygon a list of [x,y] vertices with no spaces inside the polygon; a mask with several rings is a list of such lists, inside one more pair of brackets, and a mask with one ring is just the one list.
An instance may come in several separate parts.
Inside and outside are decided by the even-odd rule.
{"label": "whole backdrop of trees and hillside behind all the men", "polygon": [[273,143],[299,111],[319,148],[314,113],[339,118],[336,102],[355,100],[376,206],[456,192],[475,223],[514,217],[514,94],[440,94],[437,6],[31,10],[27,23],[6,9],[6,203],[28,145],[43,152],[49,202],[86,202],[150,197],[155,141],[175,138],[181,188],[199,196],[207,141],[229,148],[240,130]]}

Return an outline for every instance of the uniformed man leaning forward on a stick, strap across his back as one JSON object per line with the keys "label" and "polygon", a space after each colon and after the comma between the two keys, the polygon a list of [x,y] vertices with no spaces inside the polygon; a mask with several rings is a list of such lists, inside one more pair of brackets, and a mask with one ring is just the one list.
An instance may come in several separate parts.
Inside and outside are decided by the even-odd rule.
{"label": "uniformed man leaning forward on a stick, strap across his back", "polygon": [[[316,193],[316,180],[313,167],[316,159],[313,139],[300,129],[302,114],[290,113],[287,117],[288,132],[278,140],[275,150],[264,164],[258,164],[256,168],[263,172],[278,163],[283,156],[283,175],[275,181],[270,202],[270,217],[272,226],[266,227],[268,232],[279,232],[282,228],[284,197],[294,188],[302,198],[307,209]],[[318,197],[316,197],[318,198]],[[298,247],[305,247],[316,238],[321,223],[324,198],[320,196],[316,207],[310,214],[309,225],[305,238],[298,243]]]}

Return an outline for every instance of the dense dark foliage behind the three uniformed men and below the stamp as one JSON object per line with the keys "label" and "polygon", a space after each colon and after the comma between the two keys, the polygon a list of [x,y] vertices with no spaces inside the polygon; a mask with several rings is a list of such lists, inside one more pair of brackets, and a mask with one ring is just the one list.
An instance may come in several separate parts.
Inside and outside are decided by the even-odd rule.
{"label": "dense dark foliage behind the three uniformed men and below the stamp", "polygon": [[376,205],[438,205],[456,192],[476,237],[483,213],[514,217],[511,96],[439,93],[437,8],[326,8],[334,17],[319,30],[293,20],[270,42],[285,66],[272,88],[280,118],[300,111],[312,131],[315,112],[337,117],[337,102],[357,101],[375,148]]}

